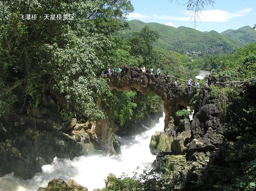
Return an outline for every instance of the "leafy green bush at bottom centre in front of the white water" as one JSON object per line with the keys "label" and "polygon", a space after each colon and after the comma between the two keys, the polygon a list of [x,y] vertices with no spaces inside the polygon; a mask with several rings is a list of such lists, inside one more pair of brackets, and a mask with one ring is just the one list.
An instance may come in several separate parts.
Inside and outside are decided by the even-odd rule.
{"label": "leafy green bush at bottom centre in front of the white water", "polygon": [[[138,167],[139,168],[139,167]],[[138,170],[137,168],[137,170]],[[147,167],[143,170],[143,173],[134,172],[132,177],[127,177],[127,175],[121,176],[121,178],[108,178],[109,186],[105,188],[106,191],[143,191],[143,190],[163,190],[169,191],[174,190],[179,186],[179,179],[174,176],[170,178],[167,175],[161,175],[156,173],[152,169]]]}

